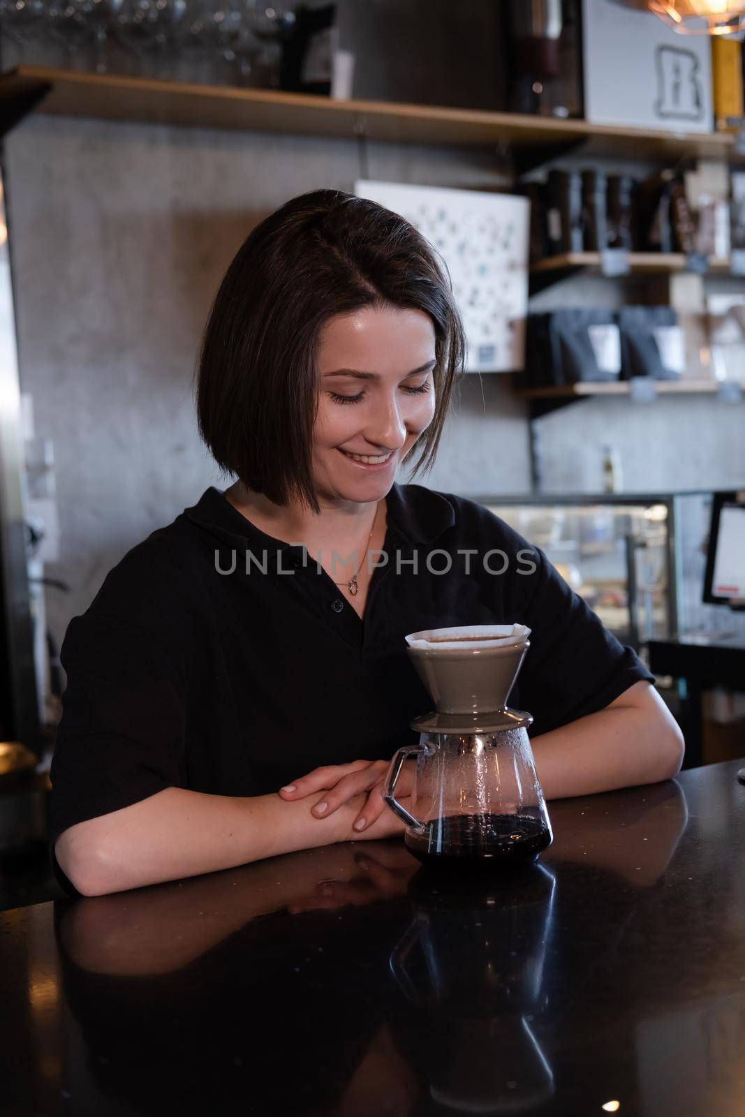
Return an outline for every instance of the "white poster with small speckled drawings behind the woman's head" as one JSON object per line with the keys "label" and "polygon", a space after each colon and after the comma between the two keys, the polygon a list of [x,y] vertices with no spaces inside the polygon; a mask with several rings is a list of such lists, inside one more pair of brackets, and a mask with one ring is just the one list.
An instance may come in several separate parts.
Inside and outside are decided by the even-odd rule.
{"label": "white poster with small speckled drawings behind the woman's head", "polygon": [[448,266],[468,341],[468,372],[525,364],[531,204],[514,194],[361,179],[370,198],[410,221]]}

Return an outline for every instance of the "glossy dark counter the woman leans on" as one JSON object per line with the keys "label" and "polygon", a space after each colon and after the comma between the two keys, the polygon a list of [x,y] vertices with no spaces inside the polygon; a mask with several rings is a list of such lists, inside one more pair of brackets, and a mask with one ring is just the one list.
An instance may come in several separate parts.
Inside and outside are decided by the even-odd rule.
{"label": "glossy dark counter the woman leans on", "polygon": [[461,895],[356,842],[2,913],[0,1113],[742,1115],[743,765]]}

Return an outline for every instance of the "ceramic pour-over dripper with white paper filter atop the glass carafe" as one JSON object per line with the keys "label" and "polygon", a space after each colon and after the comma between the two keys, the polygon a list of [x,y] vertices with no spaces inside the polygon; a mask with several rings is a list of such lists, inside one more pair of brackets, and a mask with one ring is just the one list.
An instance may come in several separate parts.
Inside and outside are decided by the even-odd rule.
{"label": "ceramic pour-over dripper with white paper filter atop the glass carafe", "polygon": [[407,652],[436,709],[411,723],[421,733],[498,733],[528,726],[507,699],[531,647],[523,624],[436,629],[407,637]]}

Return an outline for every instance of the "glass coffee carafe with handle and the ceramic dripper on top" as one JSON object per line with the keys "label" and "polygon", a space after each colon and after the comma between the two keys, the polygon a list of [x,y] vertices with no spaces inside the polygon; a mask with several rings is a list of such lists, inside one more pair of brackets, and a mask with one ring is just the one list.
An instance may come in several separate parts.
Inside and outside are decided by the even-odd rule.
{"label": "glass coffee carafe with handle and the ceramic dripper on top", "polygon": [[[419,744],[400,748],[383,799],[407,824],[404,841],[426,865],[490,869],[534,861],[552,832],[527,726],[506,705],[529,647],[514,626],[436,629],[407,637],[436,710],[411,723]],[[395,799],[417,756],[411,810]]]}

